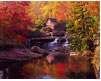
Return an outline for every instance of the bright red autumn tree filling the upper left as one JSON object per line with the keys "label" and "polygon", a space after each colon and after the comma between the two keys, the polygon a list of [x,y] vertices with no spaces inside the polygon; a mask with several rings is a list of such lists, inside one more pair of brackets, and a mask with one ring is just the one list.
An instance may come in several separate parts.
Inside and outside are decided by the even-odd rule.
{"label": "bright red autumn tree filling the upper left", "polygon": [[3,46],[7,41],[22,43],[26,39],[22,35],[28,34],[26,28],[32,24],[25,11],[29,3],[0,1],[0,38],[3,40]]}

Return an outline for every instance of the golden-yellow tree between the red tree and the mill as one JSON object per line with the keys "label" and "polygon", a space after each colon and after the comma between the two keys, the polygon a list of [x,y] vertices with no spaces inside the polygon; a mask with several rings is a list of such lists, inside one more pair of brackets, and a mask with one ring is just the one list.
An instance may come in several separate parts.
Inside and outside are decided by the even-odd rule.
{"label": "golden-yellow tree between the red tree and the mill", "polygon": [[31,17],[31,21],[35,23],[35,26],[43,26],[42,4],[44,4],[44,2],[32,1],[26,8],[28,15]]}

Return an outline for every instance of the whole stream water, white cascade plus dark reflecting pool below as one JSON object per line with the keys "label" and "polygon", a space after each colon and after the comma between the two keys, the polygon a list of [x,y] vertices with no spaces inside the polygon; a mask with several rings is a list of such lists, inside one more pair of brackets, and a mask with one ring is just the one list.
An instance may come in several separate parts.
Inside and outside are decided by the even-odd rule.
{"label": "whole stream water, white cascade plus dark reflecting pool below", "polygon": [[[93,68],[85,57],[71,57],[57,52],[54,48],[68,46],[68,40],[62,44],[58,38],[43,45],[51,53],[47,57],[29,62],[18,62],[8,67],[7,78],[16,79],[90,79],[95,78]],[[0,75],[3,74],[0,71]],[[0,76],[1,77],[1,76]]]}

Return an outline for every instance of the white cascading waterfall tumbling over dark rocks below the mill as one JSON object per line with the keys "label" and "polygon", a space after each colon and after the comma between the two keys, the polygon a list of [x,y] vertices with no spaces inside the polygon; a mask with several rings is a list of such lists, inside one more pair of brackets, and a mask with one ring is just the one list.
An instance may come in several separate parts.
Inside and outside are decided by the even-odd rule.
{"label": "white cascading waterfall tumbling over dark rocks below the mill", "polygon": [[54,41],[49,42],[43,45],[43,48],[49,50],[50,53],[56,54],[58,51],[56,49],[67,48],[68,47],[68,39],[67,36],[57,37]]}

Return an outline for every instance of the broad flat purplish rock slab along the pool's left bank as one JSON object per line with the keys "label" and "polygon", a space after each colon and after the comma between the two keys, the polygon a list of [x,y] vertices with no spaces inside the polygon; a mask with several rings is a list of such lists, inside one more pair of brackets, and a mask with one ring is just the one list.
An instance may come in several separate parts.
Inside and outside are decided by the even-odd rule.
{"label": "broad flat purplish rock slab along the pool's left bank", "polygon": [[[11,51],[0,51],[0,63],[14,63],[21,61],[28,61],[43,57],[43,54],[33,53],[27,49],[16,49]],[[1,65],[1,64],[0,64]],[[0,67],[1,68],[1,67]]]}

